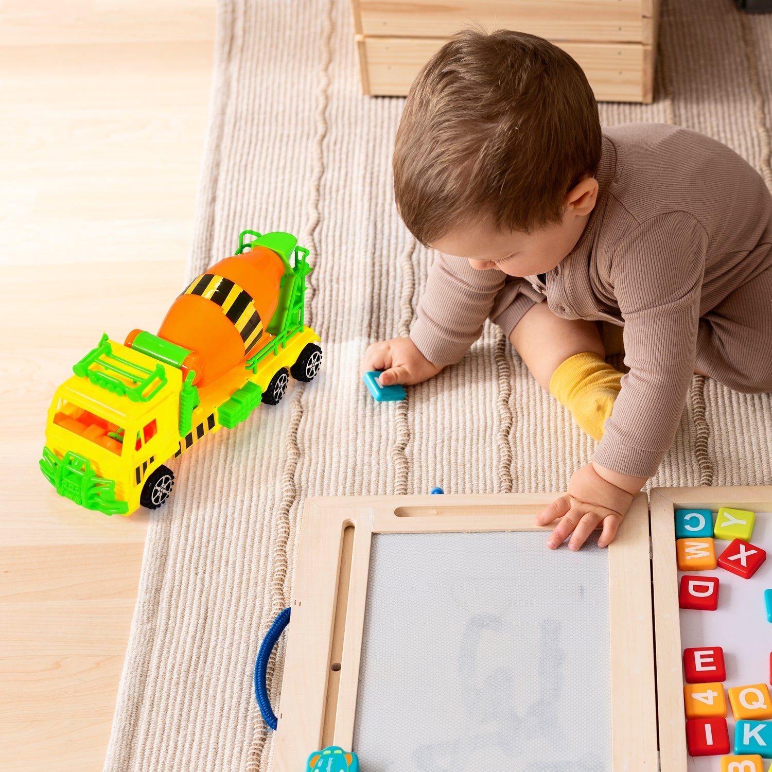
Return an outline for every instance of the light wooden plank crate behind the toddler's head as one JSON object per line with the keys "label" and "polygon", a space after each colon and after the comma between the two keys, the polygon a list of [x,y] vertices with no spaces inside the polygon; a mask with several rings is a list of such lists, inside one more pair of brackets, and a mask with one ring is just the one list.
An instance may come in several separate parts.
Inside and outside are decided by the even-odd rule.
{"label": "light wooden plank crate behind the toddler's head", "polygon": [[405,96],[418,70],[472,23],[549,39],[604,102],[651,102],[659,0],[351,0],[362,92]]}

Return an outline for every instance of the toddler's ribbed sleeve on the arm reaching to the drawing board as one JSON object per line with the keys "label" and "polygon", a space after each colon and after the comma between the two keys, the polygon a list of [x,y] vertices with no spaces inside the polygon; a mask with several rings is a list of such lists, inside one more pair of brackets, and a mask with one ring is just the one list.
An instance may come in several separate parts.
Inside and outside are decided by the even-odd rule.
{"label": "toddler's ribbed sleeve on the arm reaching to the drawing board", "polygon": [[611,258],[625,364],[594,461],[650,477],[672,445],[692,380],[707,235],[686,212],[639,225]]}

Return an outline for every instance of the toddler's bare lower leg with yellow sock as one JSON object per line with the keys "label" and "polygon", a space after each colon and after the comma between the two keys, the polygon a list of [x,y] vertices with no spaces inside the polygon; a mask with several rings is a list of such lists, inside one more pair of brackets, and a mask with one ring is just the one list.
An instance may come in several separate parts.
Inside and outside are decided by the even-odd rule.
{"label": "toddler's bare lower leg with yellow sock", "polygon": [[592,438],[603,436],[622,374],[606,364],[594,322],[556,317],[537,303],[510,333],[510,342],[533,377]]}

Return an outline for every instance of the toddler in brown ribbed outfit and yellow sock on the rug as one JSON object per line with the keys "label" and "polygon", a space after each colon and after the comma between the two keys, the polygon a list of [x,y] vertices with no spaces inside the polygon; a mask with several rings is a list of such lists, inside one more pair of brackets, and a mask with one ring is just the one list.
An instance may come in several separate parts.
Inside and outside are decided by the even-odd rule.
{"label": "toddler in brown ribbed outfit and yellow sock on the rug", "polygon": [[[599,440],[548,546],[615,537],[678,428],[692,373],[772,391],[772,196],[720,142],[662,124],[601,130],[557,46],[468,31],[422,69],[394,149],[398,212],[436,249],[409,338],[371,345],[381,384],[458,362],[486,318]],[[598,322],[624,327],[622,375]]]}

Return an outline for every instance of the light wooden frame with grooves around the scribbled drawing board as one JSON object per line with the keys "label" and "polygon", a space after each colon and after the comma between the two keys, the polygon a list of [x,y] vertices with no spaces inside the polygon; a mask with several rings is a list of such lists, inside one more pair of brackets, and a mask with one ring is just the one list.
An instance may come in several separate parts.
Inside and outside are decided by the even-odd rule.
{"label": "light wooden frame with grooves around the scribbled drawing board", "polygon": [[[308,754],[329,744],[351,748],[374,533],[549,530],[533,516],[556,496],[307,499],[273,769],[304,769]],[[613,772],[658,764],[649,546],[641,494],[608,547]]]}

